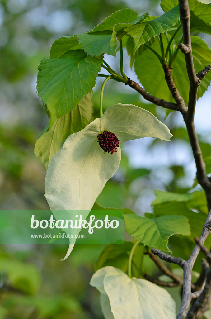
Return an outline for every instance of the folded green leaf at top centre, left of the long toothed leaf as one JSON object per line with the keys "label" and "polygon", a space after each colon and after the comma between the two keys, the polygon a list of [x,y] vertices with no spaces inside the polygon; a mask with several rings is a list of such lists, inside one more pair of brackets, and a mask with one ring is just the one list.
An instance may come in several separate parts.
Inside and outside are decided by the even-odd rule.
{"label": "folded green leaf at top centre, left of the long toothed leaf", "polygon": [[94,29],[84,34],[78,34],[78,40],[84,51],[91,56],[100,56],[101,53],[116,56],[116,33],[122,28],[143,21],[148,13],[140,17],[137,16],[137,12],[130,9],[116,11]]}

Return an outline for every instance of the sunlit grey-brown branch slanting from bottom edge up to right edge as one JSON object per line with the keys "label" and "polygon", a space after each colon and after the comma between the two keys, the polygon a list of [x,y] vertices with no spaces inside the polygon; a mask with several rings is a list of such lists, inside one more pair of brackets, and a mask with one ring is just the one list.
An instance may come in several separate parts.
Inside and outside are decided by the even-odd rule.
{"label": "sunlit grey-brown branch slanting from bottom edge up to right edge", "polygon": [[[201,245],[203,245],[204,241],[206,240],[208,234],[211,232],[210,228],[210,222],[211,222],[211,210],[208,213],[206,222],[204,224],[204,227],[202,229],[202,232],[199,237],[199,242]],[[193,265],[196,261],[196,258],[200,252],[200,247],[198,244],[195,245],[190,258],[184,263],[184,274],[183,274],[183,294],[182,294],[182,302],[180,305],[179,313],[177,316],[177,319],[185,319],[191,300],[192,300],[192,293],[191,293],[191,274]],[[202,294],[201,294],[202,295]],[[201,298],[200,295],[200,298]]]}

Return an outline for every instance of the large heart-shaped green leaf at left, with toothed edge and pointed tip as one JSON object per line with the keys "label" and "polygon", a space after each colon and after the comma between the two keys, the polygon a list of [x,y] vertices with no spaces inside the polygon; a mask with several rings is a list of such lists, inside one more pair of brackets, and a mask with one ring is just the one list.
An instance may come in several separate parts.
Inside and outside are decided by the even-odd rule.
{"label": "large heart-shaped green leaf at left, with toothed edge and pointed tip", "polygon": [[38,67],[37,90],[50,111],[50,125],[68,114],[92,91],[102,58],[82,50],[68,51],[59,59],[44,59]]}

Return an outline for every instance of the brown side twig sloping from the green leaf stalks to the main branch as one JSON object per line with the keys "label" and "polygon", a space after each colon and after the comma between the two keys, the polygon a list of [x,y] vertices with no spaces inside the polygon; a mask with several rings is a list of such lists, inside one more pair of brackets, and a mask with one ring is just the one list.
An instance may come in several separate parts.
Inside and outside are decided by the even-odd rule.
{"label": "brown side twig sloping from the green leaf stalks to the main branch", "polygon": [[144,91],[144,89],[142,89],[142,87],[132,81],[130,78],[128,78],[127,83],[125,85],[129,85],[130,87],[132,87],[134,90],[136,90],[138,93],[140,93],[143,98],[151,103],[154,103],[155,105],[160,105],[163,108],[168,108],[170,110],[174,110],[174,111],[180,111],[182,114],[184,114],[184,116],[186,115],[187,112],[187,108],[181,108],[180,106],[178,106],[175,103],[172,102],[168,102],[166,100],[161,100],[158,99],[156,96],[153,96],[151,94],[149,94],[148,92]]}

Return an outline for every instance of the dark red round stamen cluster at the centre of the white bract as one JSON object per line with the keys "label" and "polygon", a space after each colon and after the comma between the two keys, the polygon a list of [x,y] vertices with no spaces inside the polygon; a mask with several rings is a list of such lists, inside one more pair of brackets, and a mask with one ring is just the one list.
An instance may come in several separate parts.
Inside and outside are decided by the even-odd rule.
{"label": "dark red round stamen cluster at the centre of the white bract", "polygon": [[98,143],[100,147],[108,153],[115,153],[119,147],[119,139],[112,132],[104,131],[98,134]]}

